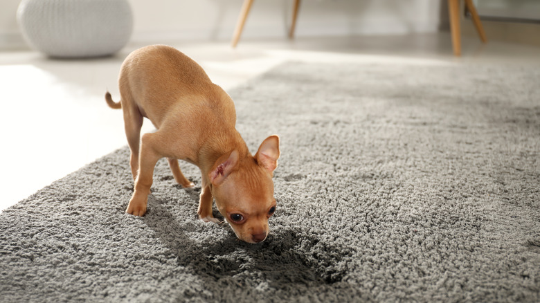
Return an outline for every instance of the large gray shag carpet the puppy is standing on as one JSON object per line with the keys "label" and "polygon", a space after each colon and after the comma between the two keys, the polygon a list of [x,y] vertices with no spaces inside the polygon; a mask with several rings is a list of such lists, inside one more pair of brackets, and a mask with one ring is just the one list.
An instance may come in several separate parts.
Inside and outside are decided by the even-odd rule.
{"label": "large gray shag carpet the puppy is standing on", "polygon": [[0,301],[539,302],[537,68],[292,62],[230,93],[253,152],[281,136],[267,241],[198,221],[187,163],[195,190],[161,160],[125,214],[124,148],[0,214]]}

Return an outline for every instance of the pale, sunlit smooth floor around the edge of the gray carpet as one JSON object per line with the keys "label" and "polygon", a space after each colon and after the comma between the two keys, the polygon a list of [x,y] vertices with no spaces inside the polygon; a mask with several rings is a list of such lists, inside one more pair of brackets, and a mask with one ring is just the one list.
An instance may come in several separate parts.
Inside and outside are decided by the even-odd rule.
{"label": "pale, sunlit smooth floor around the edge of the gray carpet", "polygon": [[[453,57],[447,33],[244,40],[236,49],[228,42],[161,43],[195,59],[225,90],[290,60],[540,66],[538,47],[483,45],[476,37],[463,39],[462,57]],[[0,52],[0,210],[126,145],[121,111],[109,109],[104,95],[109,89],[118,100],[120,64],[143,45],[131,43],[114,57],[83,60],[47,59],[29,50]],[[152,126],[145,122],[143,129]]]}

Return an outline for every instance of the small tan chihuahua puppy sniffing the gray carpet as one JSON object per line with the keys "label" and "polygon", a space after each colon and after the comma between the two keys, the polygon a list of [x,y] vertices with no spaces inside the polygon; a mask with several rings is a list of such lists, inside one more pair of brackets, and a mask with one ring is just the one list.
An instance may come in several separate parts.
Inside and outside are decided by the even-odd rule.
{"label": "small tan chihuahua puppy sniffing the gray carpet", "polygon": [[[264,241],[268,219],[276,211],[273,171],[280,156],[278,136],[269,136],[255,156],[235,129],[233,100],[190,57],[163,45],[135,50],[125,59],[118,77],[120,102],[107,92],[113,109],[123,109],[125,134],[131,149],[129,164],[134,192],[126,212],[143,216],[154,167],[168,158],[174,180],[194,184],[183,176],[178,159],[201,169],[199,219],[218,223],[217,209],[236,236],[248,243]],[[143,117],[157,131],[141,138]]]}

